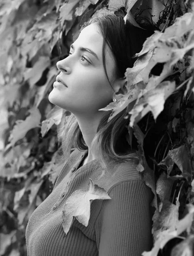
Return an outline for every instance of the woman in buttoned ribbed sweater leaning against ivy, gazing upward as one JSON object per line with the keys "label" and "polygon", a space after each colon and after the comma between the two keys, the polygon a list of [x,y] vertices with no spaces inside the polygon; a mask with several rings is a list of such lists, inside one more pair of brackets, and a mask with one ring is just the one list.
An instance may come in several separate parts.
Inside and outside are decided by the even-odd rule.
{"label": "woman in buttoned ribbed sweater leaning against ivy, gazing upward", "polygon": [[[29,219],[28,256],[140,256],[152,247],[152,194],[126,142],[126,109],[110,122],[110,111],[99,111],[126,94],[126,68],[151,35],[125,25],[124,15],[98,10],[69,56],[57,62],[60,74],[49,101],[71,112],[62,143],[67,160],[53,191]],[[74,218],[65,233],[67,200],[87,191],[90,179],[111,199],[91,201],[87,227]]]}

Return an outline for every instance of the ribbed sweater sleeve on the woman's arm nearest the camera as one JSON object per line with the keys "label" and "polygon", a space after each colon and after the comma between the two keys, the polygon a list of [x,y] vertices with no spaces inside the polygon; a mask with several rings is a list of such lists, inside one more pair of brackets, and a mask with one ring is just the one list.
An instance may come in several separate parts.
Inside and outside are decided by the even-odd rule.
{"label": "ribbed sweater sleeve on the woman's arm nearest the camera", "polygon": [[141,256],[153,246],[151,192],[141,180],[119,183],[101,210],[99,256]]}

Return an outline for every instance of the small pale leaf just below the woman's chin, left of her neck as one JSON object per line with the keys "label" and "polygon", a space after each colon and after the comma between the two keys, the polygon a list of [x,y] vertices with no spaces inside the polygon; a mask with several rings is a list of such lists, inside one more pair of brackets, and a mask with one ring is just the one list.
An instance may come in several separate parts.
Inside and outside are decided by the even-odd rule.
{"label": "small pale leaf just below the woman's chin, left of her neck", "polygon": [[61,118],[63,116],[63,108],[55,106],[51,109],[51,111],[47,114],[46,120],[43,120],[41,125],[41,134],[42,137],[48,132],[52,125],[59,125],[61,122]]}

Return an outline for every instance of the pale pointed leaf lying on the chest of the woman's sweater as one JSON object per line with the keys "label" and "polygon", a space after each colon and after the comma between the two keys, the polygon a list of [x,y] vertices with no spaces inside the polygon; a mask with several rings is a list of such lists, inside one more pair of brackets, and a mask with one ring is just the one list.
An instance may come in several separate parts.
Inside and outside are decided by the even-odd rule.
{"label": "pale pointed leaf lying on the chest of the woman's sweater", "polygon": [[63,230],[68,233],[73,217],[83,224],[88,226],[90,218],[90,201],[95,199],[111,199],[107,191],[97,184],[94,184],[90,179],[88,190],[78,189],[74,191],[67,199],[63,208]]}

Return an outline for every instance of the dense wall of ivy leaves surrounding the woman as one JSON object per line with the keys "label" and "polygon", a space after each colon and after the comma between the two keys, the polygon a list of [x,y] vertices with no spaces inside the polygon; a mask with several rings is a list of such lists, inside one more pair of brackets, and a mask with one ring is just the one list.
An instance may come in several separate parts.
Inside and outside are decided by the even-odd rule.
{"label": "dense wall of ivy leaves surrounding the woman", "polygon": [[[0,2],[0,256],[26,256],[29,216],[49,195],[62,166],[57,131],[68,111],[48,101],[56,62],[98,0]],[[137,26],[155,32],[126,71],[128,93],[105,110],[128,106],[128,142],[138,141],[145,183],[154,193],[154,247],[144,256],[193,255],[194,5],[188,0],[110,0]],[[153,68],[162,65],[160,74]],[[132,129],[133,127],[133,129]]]}

